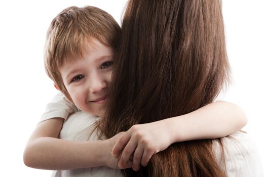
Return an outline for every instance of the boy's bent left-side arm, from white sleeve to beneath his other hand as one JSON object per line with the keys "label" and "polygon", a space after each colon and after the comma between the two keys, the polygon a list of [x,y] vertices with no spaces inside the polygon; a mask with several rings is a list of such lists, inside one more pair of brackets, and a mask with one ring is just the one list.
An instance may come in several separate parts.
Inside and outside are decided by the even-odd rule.
{"label": "boy's bent left-side arm, from white sleeve to beneath his other hand", "polygon": [[[50,170],[117,168],[118,157],[111,155],[111,148],[123,133],[105,141],[72,142],[57,138],[62,124],[62,118],[52,118],[36,126],[24,150],[25,165]],[[131,165],[129,161],[126,166]]]}

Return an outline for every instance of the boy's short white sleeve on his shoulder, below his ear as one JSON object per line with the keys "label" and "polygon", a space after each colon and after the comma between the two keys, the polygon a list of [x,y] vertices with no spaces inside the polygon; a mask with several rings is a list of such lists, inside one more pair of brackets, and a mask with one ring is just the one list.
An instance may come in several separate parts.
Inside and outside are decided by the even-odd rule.
{"label": "boy's short white sleeve on his shoulder, below his ear", "polygon": [[66,120],[69,114],[77,111],[79,111],[78,108],[62,93],[59,93],[46,105],[45,112],[41,116],[40,122],[55,117],[61,117]]}

